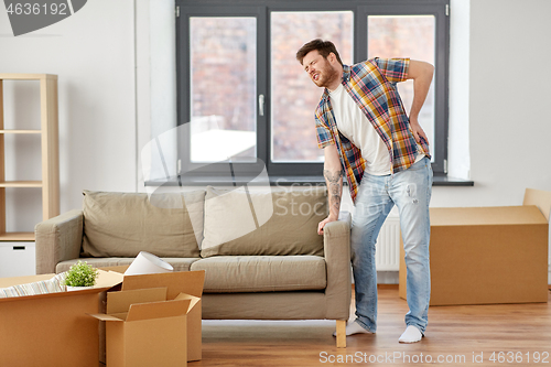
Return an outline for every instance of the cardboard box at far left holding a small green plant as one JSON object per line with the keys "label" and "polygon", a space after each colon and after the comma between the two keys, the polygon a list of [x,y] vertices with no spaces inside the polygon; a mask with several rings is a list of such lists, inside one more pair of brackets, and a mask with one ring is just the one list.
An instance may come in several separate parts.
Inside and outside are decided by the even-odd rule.
{"label": "cardboard box at far left holding a small green plant", "polygon": [[[55,274],[0,279],[0,288],[48,280]],[[0,366],[98,366],[99,293],[122,281],[100,271],[93,289],[0,299]]]}

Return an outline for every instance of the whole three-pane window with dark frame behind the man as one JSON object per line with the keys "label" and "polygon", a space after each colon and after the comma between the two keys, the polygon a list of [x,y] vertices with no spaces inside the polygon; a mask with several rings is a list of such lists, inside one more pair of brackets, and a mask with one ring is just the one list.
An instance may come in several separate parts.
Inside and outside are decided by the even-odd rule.
{"label": "whole three-pane window with dark frame behind the man", "polygon": [[[314,109],[323,93],[295,60],[306,42],[337,46],[345,64],[411,57],[435,65],[420,114],[435,174],[447,154],[450,0],[176,0],[179,158],[217,176],[227,164],[271,179],[322,174]],[[409,109],[412,83],[399,84]],[[191,122],[191,123],[188,123]],[[317,177],[317,179],[314,179]]]}

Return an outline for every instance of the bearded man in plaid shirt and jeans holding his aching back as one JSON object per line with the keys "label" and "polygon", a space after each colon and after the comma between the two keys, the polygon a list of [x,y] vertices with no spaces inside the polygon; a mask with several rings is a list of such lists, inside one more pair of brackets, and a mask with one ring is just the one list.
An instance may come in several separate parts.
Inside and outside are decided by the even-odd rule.
{"label": "bearded man in plaid shirt and jeans holding his aching back", "polygon": [[[318,87],[325,88],[315,111],[317,143],[324,149],[323,174],[328,188],[329,215],[318,233],[337,220],[346,175],[353,216],[352,263],[356,320],[346,335],[377,330],[377,271],[375,244],[396,204],[408,269],[410,311],[400,343],[421,341],[430,301],[429,202],[432,169],[426,136],[418,116],[431,85],[434,67],[409,58],[372,58],[343,65],[335,45],[314,40],[296,58]],[[413,102],[406,115],[396,83],[413,79]]]}

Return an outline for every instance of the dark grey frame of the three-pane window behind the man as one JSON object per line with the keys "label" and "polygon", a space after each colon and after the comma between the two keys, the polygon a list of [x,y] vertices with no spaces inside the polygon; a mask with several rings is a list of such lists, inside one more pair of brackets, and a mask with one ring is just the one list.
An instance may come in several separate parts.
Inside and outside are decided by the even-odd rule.
{"label": "dark grey frame of the three-pane window behind the man", "polygon": [[[228,6],[230,3],[230,6]],[[354,13],[354,63],[367,60],[368,15],[434,15],[435,17],[435,75],[434,75],[434,139],[432,168],[435,175],[446,175],[449,131],[449,68],[450,68],[450,0],[175,0],[176,18],[176,90],[177,126],[191,120],[191,17],[256,17],[257,18],[257,98],[264,96],[264,114],[257,109],[257,161],[234,163],[244,174],[259,172],[266,164],[272,179],[302,177],[306,182],[320,182],[323,163],[272,162],[271,161],[271,12],[279,11],[353,11]],[[356,34],[366,34],[358,37]],[[310,41],[305,40],[304,42]],[[398,55],[408,57],[408,55]],[[314,127],[312,107],[312,127]],[[184,129],[185,130],[185,129]],[[312,128],[312,133],[315,133]],[[226,169],[225,164],[194,164],[190,162],[190,134],[179,137],[179,160],[186,175],[215,179]],[[322,180],[323,182],[323,180]]]}

